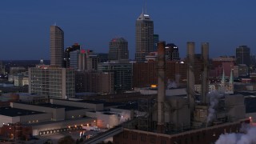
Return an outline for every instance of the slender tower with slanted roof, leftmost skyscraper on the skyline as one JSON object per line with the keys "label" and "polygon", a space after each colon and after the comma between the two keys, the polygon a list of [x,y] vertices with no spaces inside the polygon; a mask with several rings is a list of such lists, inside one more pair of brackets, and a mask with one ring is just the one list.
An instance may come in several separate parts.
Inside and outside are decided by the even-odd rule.
{"label": "slender tower with slanted roof, leftmost skyscraper on the skyline", "polygon": [[50,65],[63,65],[64,32],[58,26],[50,26]]}

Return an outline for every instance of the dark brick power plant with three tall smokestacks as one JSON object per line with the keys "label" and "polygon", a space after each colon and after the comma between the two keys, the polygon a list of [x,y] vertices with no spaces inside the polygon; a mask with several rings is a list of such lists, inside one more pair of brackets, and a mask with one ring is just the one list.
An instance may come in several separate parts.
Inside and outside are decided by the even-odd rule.
{"label": "dark brick power plant with three tall smokestacks", "polygon": [[[139,105],[145,115],[123,125],[122,133],[114,135],[114,143],[213,143],[221,134],[237,133],[243,122],[250,122],[241,94],[208,94],[209,43],[202,43],[200,55],[194,54],[194,48],[194,42],[187,42],[186,96],[166,96],[165,42],[158,42],[158,97]],[[195,57],[202,62],[199,101],[194,94]]]}

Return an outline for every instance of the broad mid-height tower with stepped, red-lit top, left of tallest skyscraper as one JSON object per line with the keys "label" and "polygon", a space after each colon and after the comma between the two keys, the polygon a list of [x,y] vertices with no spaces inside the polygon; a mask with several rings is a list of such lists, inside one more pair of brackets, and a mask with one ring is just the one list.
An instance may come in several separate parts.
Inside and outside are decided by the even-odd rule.
{"label": "broad mid-height tower with stepped, red-lit top, left of tallest skyscraper", "polygon": [[125,38],[113,38],[110,41],[109,61],[129,59],[128,42]]}

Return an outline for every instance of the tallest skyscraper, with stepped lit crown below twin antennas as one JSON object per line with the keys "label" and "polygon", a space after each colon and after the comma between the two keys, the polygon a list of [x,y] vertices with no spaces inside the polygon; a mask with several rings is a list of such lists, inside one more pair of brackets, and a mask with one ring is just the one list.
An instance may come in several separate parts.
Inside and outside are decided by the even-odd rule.
{"label": "tallest skyscraper, with stepped lit crown below twin antennas", "polygon": [[150,15],[142,14],[136,21],[135,60],[145,62],[145,56],[154,50],[154,22]]}

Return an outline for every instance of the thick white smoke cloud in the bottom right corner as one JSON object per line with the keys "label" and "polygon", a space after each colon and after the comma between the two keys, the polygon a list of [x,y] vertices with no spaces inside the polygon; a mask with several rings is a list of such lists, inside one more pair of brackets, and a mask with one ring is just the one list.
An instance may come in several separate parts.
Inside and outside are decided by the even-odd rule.
{"label": "thick white smoke cloud in the bottom right corner", "polygon": [[253,144],[256,143],[256,127],[243,124],[240,133],[222,134],[215,144]]}

